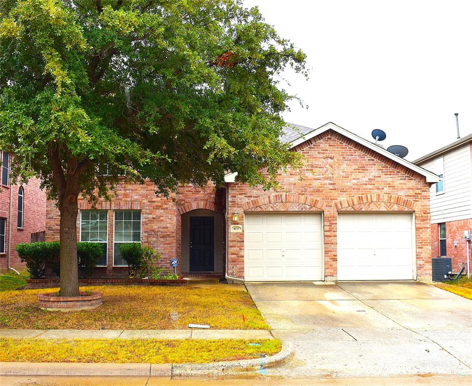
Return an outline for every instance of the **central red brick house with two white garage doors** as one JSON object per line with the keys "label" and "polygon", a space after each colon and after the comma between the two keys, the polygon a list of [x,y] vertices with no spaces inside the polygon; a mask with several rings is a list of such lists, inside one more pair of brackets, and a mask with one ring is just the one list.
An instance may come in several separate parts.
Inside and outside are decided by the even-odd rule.
{"label": "central red brick house with two white garage doors", "polygon": [[[175,201],[156,197],[151,183],[126,182],[95,210],[81,200],[77,238],[104,245],[96,275],[126,275],[117,245],[142,239],[161,253],[160,266],[176,257],[187,277],[431,277],[429,188],[436,174],[333,123],[293,125],[283,139],[306,158],[300,170],[280,173],[284,190],[250,187],[229,173],[219,188],[181,186]],[[47,240],[58,240],[52,202],[46,229]]]}

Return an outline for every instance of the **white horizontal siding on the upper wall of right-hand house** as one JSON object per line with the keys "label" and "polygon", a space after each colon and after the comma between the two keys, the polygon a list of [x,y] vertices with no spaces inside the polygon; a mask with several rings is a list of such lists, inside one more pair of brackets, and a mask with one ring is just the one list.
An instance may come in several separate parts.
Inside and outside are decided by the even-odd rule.
{"label": "white horizontal siding on the upper wall of right-hand house", "polygon": [[[466,143],[443,155],[444,193],[436,194],[436,184],[430,189],[431,223],[464,220],[472,217],[472,170],[470,144]],[[435,170],[434,157],[419,166],[432,172]]]}

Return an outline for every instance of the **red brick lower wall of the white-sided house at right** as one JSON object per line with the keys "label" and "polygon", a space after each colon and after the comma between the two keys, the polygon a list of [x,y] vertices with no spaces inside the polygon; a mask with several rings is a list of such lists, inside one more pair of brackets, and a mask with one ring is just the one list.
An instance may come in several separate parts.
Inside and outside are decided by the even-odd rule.
{"label": "red brick lower wall of the white-sided house at right", "polygon": [[[446,256],[452,258],[452,271],[457,273],[467,261],[467,244],[464,231],[472,232],[472,219],[449,221],[446,224]],[[457,246],[454,246],[457,241]],[[431,257],[439,256],[439,224],[431,224]],[[472,267],[472,249],[469,250],[469,264]],[[466,273],[466,272],[464,272]]]}

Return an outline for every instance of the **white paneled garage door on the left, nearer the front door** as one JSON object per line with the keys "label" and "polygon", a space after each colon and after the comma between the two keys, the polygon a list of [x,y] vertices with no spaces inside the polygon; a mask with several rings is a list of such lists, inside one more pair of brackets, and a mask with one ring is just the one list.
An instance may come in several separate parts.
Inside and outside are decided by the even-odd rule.
{"label": "white paneled garage door on the left, nearer the front door", "polygon": [[322,280],[320,213],[244,216],[245,280]]}

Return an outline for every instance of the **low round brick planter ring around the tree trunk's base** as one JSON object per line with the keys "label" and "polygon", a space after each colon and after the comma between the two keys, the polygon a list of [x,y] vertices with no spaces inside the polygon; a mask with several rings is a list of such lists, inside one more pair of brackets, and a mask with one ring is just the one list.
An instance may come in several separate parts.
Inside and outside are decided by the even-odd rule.
{"label": "low round brick planter ring around the tree trunk's base", "polygon": [[80,296],[57,296],[57,293],[39,294],[39,307],[48,311],[89,310],[102,305],[99,292],[80,292]]}

